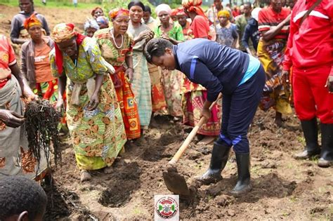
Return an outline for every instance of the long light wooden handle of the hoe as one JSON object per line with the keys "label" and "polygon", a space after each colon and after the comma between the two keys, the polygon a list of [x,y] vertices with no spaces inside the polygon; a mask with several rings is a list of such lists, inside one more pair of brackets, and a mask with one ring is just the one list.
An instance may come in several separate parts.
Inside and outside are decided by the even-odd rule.
{"label": "long light wooden handle of the hoe", "polygon": [[[209,110],[211,110],[211,108],[214,107],[214,105],[216,104],[216,102],[218,100],[220,100],[220,98],[222,98],[221,93],[218,95],[218,98],[211,104],[211,107],[209,107]],[[179,147],[179,149],[176,152],[176,154],[174,155],[174,157],[171,159],[171,161],[169,161],[169,164],[175,164],[175,163],[178,162],[178,160],[181,158],[181,156],[183,156],[183,153],[185,152],[185,149],[188,148],[188,145],[190,145],[190,142],[193,140],[193,138],[197,134],[197,130],[199,130],[201,128],[202,124],[204,124],[207,120],[208,119],[206,119],[206,117],[202,116],[199,123],[197,123],[197,125],[192,129],[191,133],[185,139],[185,141],[183,142],[181,147]]]}

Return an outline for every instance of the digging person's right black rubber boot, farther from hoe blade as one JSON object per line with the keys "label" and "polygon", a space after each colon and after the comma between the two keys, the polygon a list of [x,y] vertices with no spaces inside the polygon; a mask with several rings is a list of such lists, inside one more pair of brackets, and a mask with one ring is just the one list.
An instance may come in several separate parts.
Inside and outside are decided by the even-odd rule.
{"label": "digging person's right black rubber boot, farther from hoe blade", "polygon": [[236,154],[238,179],[235,188],[230,192],[235,196],[246,194],[252,189],[250,182],[250,159],[248,154]]}

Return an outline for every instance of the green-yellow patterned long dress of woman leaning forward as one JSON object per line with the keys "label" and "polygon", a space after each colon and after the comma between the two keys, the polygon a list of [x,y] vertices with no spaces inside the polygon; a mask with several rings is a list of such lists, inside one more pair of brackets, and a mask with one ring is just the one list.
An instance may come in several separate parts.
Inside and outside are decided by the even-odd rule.
{"label": "green-yellow patterned long dress of woman leaning forward", "polygon": [[[79,46],[77,66],[63,54],[63,69],[67,76],[67,125],[74,146],[77,165],[84,170],[98,170],[111,166],[126,142],[115,87],[103,64],[100,48],[95,39],[86,37]],[[53,76],[59,77],[55,64],[55,50],[50,53]],[[96,74],[105,74],[100,88],[100,103],[89,111],[88,82]],[[74,84],[81,83],[79,105],[72,105]],[[93,82],[94,85],[94,82]]]}

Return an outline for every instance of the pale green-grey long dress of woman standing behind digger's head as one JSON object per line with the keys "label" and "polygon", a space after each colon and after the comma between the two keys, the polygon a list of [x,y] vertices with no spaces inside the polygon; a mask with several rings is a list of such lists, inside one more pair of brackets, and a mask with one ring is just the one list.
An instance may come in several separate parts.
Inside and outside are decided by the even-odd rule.
{"label": "pale green-grey long dress of woman standing behind digger's head", "polygon": [[[145,24],[141,24],[140,27],[134,28],[132,23],[129,22],[128,32],[133,38],[136,38],[136,36],[146,30],[150,31],[150,28]],[[152,92],[147,60],[145,60],[145,56],[143,55],[144,47],[145,39],[137,42],[133,46],[134,76],[131,88],[136,96],[141,128],[148,128],[150,117],[152,116]]]}

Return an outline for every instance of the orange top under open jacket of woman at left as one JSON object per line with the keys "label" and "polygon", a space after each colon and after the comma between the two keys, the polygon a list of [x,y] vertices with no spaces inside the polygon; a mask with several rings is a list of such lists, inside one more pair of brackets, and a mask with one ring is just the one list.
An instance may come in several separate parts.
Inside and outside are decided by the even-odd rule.
{"label": "orange top under open jacket of woman at left", "polygon": [[48,60],[48,53],[50,51],[51,48],[45,42],[41,46],[34,46],[34,72],[37,83],[53,81],[55,79],[51,74],[50,60]]}

